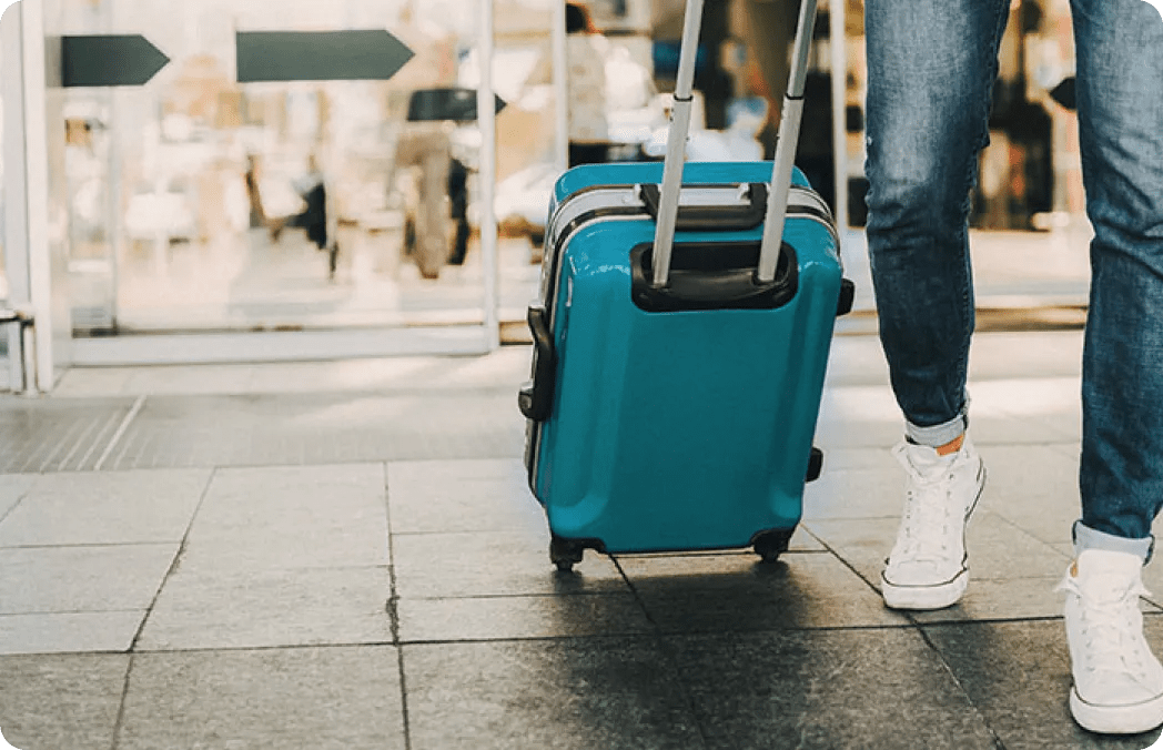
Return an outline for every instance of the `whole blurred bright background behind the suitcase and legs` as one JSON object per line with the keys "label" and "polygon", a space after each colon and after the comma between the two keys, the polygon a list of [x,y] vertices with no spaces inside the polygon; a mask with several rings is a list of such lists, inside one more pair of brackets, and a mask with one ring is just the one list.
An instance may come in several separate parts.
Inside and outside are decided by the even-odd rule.
{"label": "whole blurred bright background behind the suitcase and legs", "polygon": [[[36,351],[21,356],[50,390],[71,364],[520,338],[557,176],[662,156],[683,9],[22,0],[0,21],[0,306],[35,313]],[[688,158],[771,157],[797,13],[789,0],[707,0]],[[1034,259],[999,272],[999,293],[1059,303],[1083,293],[1089,240],[1069,3],[1014,0],[1011,13],[975,242]],[[384,79],[240,81],[240,34],[361,29],[386,30],[412,57]],[[169,62],[143,85],[64,85],[80,63],[63,37],[117,35]],[[798,164],[836,212],[858,277],[862,2],[821,2],[814,37]],[[477,112],[483,85],[492,116]],[[0,356],[14,341],[0,336]]]}

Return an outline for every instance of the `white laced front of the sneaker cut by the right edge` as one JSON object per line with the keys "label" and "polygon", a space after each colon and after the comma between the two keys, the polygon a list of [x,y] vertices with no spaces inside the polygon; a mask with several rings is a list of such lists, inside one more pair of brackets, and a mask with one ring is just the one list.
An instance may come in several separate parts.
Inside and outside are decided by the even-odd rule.
{"label": "white laced front of the sneaker cut by the right edge", "polygon": [[1084,590],[1077,578],[1068,574],[1055,591],[1078,597],[1085,670],[1125,673],[1139,683],[1148,679],[1150,651],[1142,637],[1139,598],[1149,597],[1150,592],[1137,577],[1128,583],[1099,578]]}

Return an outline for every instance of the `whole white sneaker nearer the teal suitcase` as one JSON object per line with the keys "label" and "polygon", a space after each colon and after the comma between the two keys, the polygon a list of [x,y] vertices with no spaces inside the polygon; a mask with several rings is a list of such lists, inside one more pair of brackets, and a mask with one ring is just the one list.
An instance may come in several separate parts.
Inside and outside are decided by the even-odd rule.
{"label": "whole white sneaker nearer the teal suitcase", "polygon": [[982,497],[985,465],[969,436],[948,456],[908,442],[893,455],[907,474],[905,512],[880,593],[893,609],[941,609],[969,585],[965,524]]}

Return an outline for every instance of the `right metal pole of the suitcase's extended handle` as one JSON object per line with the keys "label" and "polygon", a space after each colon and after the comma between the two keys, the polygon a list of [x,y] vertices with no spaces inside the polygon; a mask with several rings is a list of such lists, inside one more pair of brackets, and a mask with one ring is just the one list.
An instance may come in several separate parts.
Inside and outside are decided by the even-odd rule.
{"label": "right metal pole of the suitcase's extended handle", "polygon": [[768,220],[763,226],[759,267],[756,271],[756,279],[761,284],[772,281],[779,266],[784,220],[787,217],[787,195],[792,185],[792,166],[795,163],[800,120],[804,116],[804,85],[807,80],[807,55],[812,49],[812,33],[815,28],[815,5],[816,0],[802,0],[800,6],[792,70],[787,80],[787,93],[784,95],[783,116],[779,119],[775,164],[771,167]]}

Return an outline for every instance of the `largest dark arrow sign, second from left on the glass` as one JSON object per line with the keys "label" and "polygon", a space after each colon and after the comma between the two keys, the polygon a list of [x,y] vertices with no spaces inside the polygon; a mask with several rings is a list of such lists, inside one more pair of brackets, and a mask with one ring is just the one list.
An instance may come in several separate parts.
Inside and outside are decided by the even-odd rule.
{"label": "largest dark arrow sign, second from left on the glass", "polygon": [[386,80],[413,52],[384,29],[238,31],[238,83]]}

